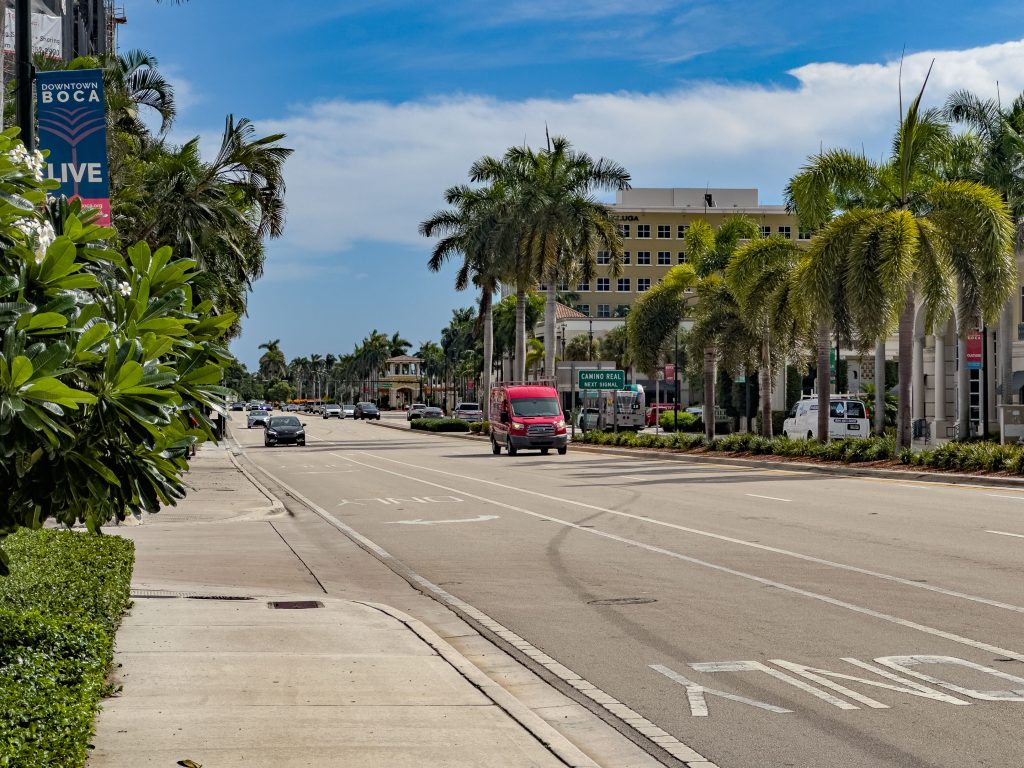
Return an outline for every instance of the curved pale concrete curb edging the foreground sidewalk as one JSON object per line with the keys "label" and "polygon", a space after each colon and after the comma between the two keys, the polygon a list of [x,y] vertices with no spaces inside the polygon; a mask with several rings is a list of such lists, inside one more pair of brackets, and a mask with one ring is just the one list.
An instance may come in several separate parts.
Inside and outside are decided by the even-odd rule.
{"label": "curved pale concrete curb edging the foreground sidewalk", "polygon": [[556,758],[569,766],[569,768],[599,768],[597,763],[588,758],[565,736],[544,722],[539,715],[529,710],[518,698],[484,675],[468,658],[441,639],[440,636],[423,622],[413,618],[390,605],[368,602],[366,600],[353,600],[353,602],[376,608],[382,613],[386,613],[406,625],[423,642],[437,651],[437,654],[452,665],[470,684],[479,689],[483,695],[494,701],[500,710],[515,720]]}

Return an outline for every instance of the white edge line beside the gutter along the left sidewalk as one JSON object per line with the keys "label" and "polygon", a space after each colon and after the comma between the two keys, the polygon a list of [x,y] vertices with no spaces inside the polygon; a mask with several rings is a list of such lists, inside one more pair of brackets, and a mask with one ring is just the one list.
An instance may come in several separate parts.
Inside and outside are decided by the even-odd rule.
{"label": "white edge line beside the gutter along the left sidewalk", "polygon": [[[238,442],[237,438],[236,442]],[[239,445],[239,447],[244,452],[244,449],[241,444]],[[400,564],[401,566],[400,568],[397,565],[394,566],[393,570],[395,573],[398,573],[399,575],[402,575],[402,578],[407,578],[415,582],[416,584],[420,585],[426,592],[432,593],[439,602],[441,602],[444,605],[447,605],[449,608],[451,608],[453,612],[456,613],[456,615],[460,615],[463,620],[466,620],[466,616],[469,616],[472,620],[472,622],[476,622],[478,626],[483,627],[488,632],[494,633],[494,635],[501,638],[503,642],[506,642],[513,648],[518,649],[518,651],[528,656],[531,659],[531,662],[540,665],[541,667],[544,667],[550,674],[557,677],[566,685],[574,688],[579,694],[587,696],[587,698],[591,699],[598,707],[604,709],[604,711],[607,712],[611,717],[615,718],[616,720],[623,721],[628,727],[635,730],[641,738],[647,739],[651,744],[653,744],[655,750],[656,749],[665,750],[667,753],[669,753],[669,755],[684,763],[702,763],[708,766],[714,765],[713,763],[706,761],[705,758],[699,753],[687,746],[685,743],[677,739],[671,733],[663,730],[662,728],[658,728],[656,725],[654,725],[654,723],[652,723],[650,720],[647,720],[639,713],[633,712],[630,708],[626,707],[626,705],[622,703],[614,697],[609,696],[602,689],[598,688],[593,683],[589,682],[585,678],[572,672],[572,670],[559,664],[554,658],[544,653],[544,651],[542,651],[540,648],[537,648],[536,646],[526,642],[525,639],[515,634],[511,630],[507,629],[502,624],[496,622],[494,618],[488,616],[482,610],[473,607],[464,600],[460,600],[458,597],[445,591],[441,587],[438,587],[433,582],[424,579],[419,573],[417,573],[416,571],[412,570],[407,565],[404,565],[404,563],[401,563],[400,560],[394,557],[390,552],[385,550],[383,547],[380,547],[375,542],[362,536],[351,525],[347,525],[346,523],[342,522],[337,517],[328,512],[326,509],[317,505],[315,502],[307,499],[297,488],[294,488],[291,485],[289,485],[287,482],[285,482],[276,475],[274,475],[272,472],[270,472],[270,470],[261,466],[257,462],[253,462],[253,465],[260,472],[269,477],[273,482],[275,482],[278,485],[280,485],[289,494],[291,494],[295,499],[304,504],[308,509],[312,510],[321,519],[323,519],[329,525],[337,528],[349,540],[356,542],[359,546],[364,547],[370,552],[373,552],[381,560],[381,562],[385,564],[389,563]],[[367,465],[360,464],[360,466],[367,466]],[[388,565],[388,567],[392,566]],[[471,622],[467,623],[469,623],[470,626],[472,626]],[[481,635],[483,633],[481,633]],[[528,665],[526,666],[528,667]],[[492,699],[492,700],[494,700],[495,703],[497,703],[503,710],[505,709],[501,699]],[[506,712],[508,711],[506,710]],[[511,712],[509,714],[512,715]]]}

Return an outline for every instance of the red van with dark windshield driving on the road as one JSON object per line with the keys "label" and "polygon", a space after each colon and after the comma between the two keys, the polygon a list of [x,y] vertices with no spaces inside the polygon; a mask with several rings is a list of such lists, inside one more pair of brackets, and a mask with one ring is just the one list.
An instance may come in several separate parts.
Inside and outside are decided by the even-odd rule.
{"label": "red van with dark windshield driving on the road", "polygon": [[493,454],[502,453],[504,445],[509,456],[515,456],[519,449],[540,449],[547,454],[553,447],[565,455],[565,416],[554,387],[499,384],[490,390],[487,418]]}

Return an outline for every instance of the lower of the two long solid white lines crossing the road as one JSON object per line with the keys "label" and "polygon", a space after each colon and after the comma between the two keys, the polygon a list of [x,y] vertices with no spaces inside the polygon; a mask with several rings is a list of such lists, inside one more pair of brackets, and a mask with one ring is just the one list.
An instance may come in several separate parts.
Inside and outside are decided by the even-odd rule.
{"label": "lower of the two long solid white lines crossing the road", "polygon": [[[354,459],[351,459],[350,461],[352,461],[355,464],[360,463],[355,461]],[[400,464],[401,462],[395,462],[395,463]],[[863,605],[857,605],[856,603],[851,603],[846,600],[840,600],[839,598],[830,597],[828,595],[821,595],[818,594],[817,592],[811,592],[810,590],[805,590],[800,587],[794,587],[788,584],[783,584],[782,582],[776,582],[772,579],[759,577],[755,573],[746,573],[745,571],[737,570],[736,568],[730,568],[726,565],[719,565],[718,563],[713,563],[708,560],[701,560],[696,557],[690,557],[689,555],[684,555],[679,552],[674,552],[672,550],[665,549],[664,547],[655,547],[652,544],[640,542],[635,539],[627,539],[626,537],[622,537],[616,534],[609,534],[607,531],[600,530],[599,528],[584,527],[583,525],[579,525],[569,520],[562,520],[559,517],[553,517],[552,515],[546,515],[541,512],[534,512],[532,510],[524,509],[522,507],[516,507],[515,505],[506,504],[505,502],[500,502],[495,499],[487,499],[486,497],[477,496],[475,494],[471,494],[467,490],[462,490],[460,488],[454,488],[447,485],[442,485],[438,482],[433,482],[432,480],[424,480],[420,477],[414,477],[413,475],[406,475],[402,474],[401,472],[395,472],[390,469],[384,469],[383,467],[379,467],[373,464],[362,464],[362,466],[367,467],[368,469],[376,470],[378,472],[384,472],[385,474],[394,475],[395,477],[401,477],[402,479],[406,480],[412,480],[413,482],[420,482],[423,483],[424,485],[431,485],[433,487],[441,488],[443,490],[447,490],[451,494],[459,494],[469,499],[475,499],[479,502],[483,502],[484,504],[490,504],[493,506],[500,507],[502,509],[507,509],[512,512],[519,512],[521,514],[528,515],[530,517],[536,517],[542,520],[550,520],[551,522],[559,523],[560,525],[564,525],[567,528],[573,528],[583,534],[588,534],[590,536],[597,536],[602,539],[618,542],[620,544],[625,544],[630,547],[636,547],[638,549],[646,550],[647,552],[653,552],[655,554],[665,555],[667,557],[671,557],[676,560],[681,560],[682,562],[688,562],[692,565],[699,565],[701,567],[709,568],[711,570],[717,570],[720,573],[728,573],[729,575],[734,575],[739,579],[744,579],[746,581],[754,582],[755,584],[761,584],[765,587],[773,587],[777,590],[788,592],[794,595],[800,595],[802,597],[807,597],[812,600],[817,600],[819,602],[823,602],[827,605],[833,605],[838,608],[845,608],[854,613],[860,613],[862,615],[871,616],[872,618],[878,618],[883,622],[895,624],[899,627],[903,627],[904,629],[915,630],[918,632],[923,632],[926,635],[939,637],[942,638],[943,640],[948,640],[953,643],[967,645],[972,648],[976,648],[978,650],[987,651],[989,653],[998,653],[1008,658],[1015,658],[1018,662],[1024,662],[1024,653],[1020,653],[1014,650],[1009,650],[1007,648],[1000,648],[997,645],[992,645],[990,643],[986,643],[980,640],[974,640],[972,638],[965,637],[964,635],[957,635],[952,632],[946,632],[945,630],[940,630],[935,627],[929,627],[928,625],[919,624],[918,622],[911,622],[906,618],[900,618],[899,616],[895,616],[891,613],[885,613],[881,610],[874,610],[873,608],[868,608]]]}

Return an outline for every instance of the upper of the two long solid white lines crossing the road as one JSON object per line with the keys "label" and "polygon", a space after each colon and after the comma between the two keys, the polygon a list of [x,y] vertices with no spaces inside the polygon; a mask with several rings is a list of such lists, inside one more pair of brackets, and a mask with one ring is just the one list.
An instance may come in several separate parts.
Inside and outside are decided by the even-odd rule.
{"label": "upper of the two long solid white lines crossing the road", "polygon": [[[456,474],[454,472],[445,472],[441,469],[430,469],[428,467],[422,467],[416,464],[409,464],[408,462],[400,462],[395,459],[388,459],[386,457],[377,456],[375,454],[370,454],[368,452],[361,452],[364,455],[372,457],[374,459],[379,459],[393,464],[398,464],[404,467],[411,467],[413,469],[419,469],[424,472],[433,472],[435,474],[447,475],[451,477],[458,477],[463,480],[472,480],[473,482],[481,482],[486,485],[494,485],[496,487],[504,488],[506,490],[512,490],[516,494],[524,494],[527,496],[536,496],[541,499],[547,499],[548,501],[557,502],[558,504],[567,504],[574,507],[581,507],[583,509],[589,509],[595,512],[603,512],[609,515],[616,515],[618,517],[626,517],[632,520],[641,520],[643,522],[649,522],[653,525],[662,525],[664,527],[673,528],[674,530],[681,530],[685,534],[692,534],[694,536],[701,536],[708,539],[715,539],[720,542],[727,542],[729,544],[735,544],[742,547],[750,547],[752,549],[761,550],[762,552],[771,552],[776,555],[782,555],[784,557],[793,557],[798,560],[804,560],[805,562],[813,562],[818,565],[826,565],[830,568],[839,568],[841,570],[848,570],[852,573],[860,573],[862,575],[869,575],[874,579],[881,579],[886,582],[891,582],[893,584],[899,584],[903,587],[911,587],[913,589],[925,590],[927,592],[935,592],[940,595],[945,595],[946,597],[955,597],[961,600],[970,600],[971,602],[980,603],[982,605],[988,605],[993,608],[1000,608],[1002,610],[1012,610],[1017,613],[1024,613],[1024,607],[1020,605],[1013,605],[1011,603],[1000,602],[999,600],[991,600],[987,597],[980,597],[978,595],[971,595],[966,592],[957,592],[955,590],[949,590],[944,587],[936,587],[931,584],[922,584],[920,582],[912,582],[909,579],[903,579],[901,577],[893,575],[891,573],[883,573],[878,570],[871,570],[869,568],[861,568],[857,565],[850,565],[848,563],[835,562],[833,560],[825,560],[820,557],[814,557],[813,555],[805,555],[801,552],[794,552],[792,550],[780,549],[779,547],[771,547],[767,544],[759,544],[757,542],[750,542],[744,539],[735,539],[730,536],[723,536],[722,534],[714,534],[710,530],[701,530],[700,528],[691,528],[687,525],[679,525],[674,522],[667,522],[665,520],[657,520],[653,517],[647,517],[646,515],[637,515],[632,512],[621,512],[614,509],[608,509],[606,507],[598,507],[593,504],[587,504],[586,502],[577,501],[574,499],[563,499],[557,496],[550,496],[549,494],[542,494],[539,490],[530,490],[525,487],[516,487],[514,485],[506,485],[505,483],[496,482],[494,480],[484,480],[480,477],[471,477],[464,474]],[[354,461],[354,460],[353,460]],[[372,466],[372,465],[364,465]],[[387,470],[382,470],[387,471]]]}

